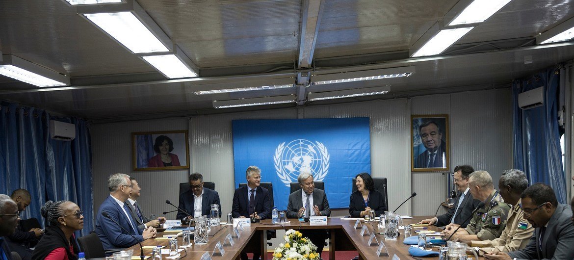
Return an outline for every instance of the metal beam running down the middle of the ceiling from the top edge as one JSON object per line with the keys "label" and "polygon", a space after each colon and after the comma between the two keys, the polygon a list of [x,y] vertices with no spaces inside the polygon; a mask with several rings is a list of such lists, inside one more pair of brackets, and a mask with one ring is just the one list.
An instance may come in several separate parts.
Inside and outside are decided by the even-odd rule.
{"label": "metal beam running down the middle of the ceiling from the top edge", "polygon": [[313,52],[319,34],[319,25],[325,0],[304,0],[301,5],[301,28],[299,41],[298,68],[309,68],[313,62]]}

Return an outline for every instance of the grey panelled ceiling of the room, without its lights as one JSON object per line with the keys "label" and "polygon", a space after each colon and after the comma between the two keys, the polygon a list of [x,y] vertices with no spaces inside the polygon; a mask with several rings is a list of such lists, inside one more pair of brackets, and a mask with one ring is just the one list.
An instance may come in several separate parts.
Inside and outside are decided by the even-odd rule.
{"label": "grey panelled ceiling of the room, without its lights", "polygon": [[[320,1],[137,0],[199,68],[199,77],[167,79],[64,0],[0,1],[0,52],[71,79],[69,87],[40,88],[0,76],[0,99],[104,123],[504,88],[513,79],[574,57],[572,41],[536,45],[535,40],[574,16],[569,0],[513,0],[441,55],[410,57],[409,50],[426,32],[442,25],[457,2],[324,0],[315,34],[301,25],[313,21],[312,8],[305,7]],[[301,48],[306,46],[301,38],[307,36],[316,37],[312,52]],[[305,59],[309,55],[311,59]],[[409,77],[194,93],[296,84],[298,73],[311,72],[312,82],[325,73],[409,66],[416,70]],[[379,86],[390,86],[390,92],[307,99],[309,92]],[[299,103],[241,108],[212,104],[289,95]]]}

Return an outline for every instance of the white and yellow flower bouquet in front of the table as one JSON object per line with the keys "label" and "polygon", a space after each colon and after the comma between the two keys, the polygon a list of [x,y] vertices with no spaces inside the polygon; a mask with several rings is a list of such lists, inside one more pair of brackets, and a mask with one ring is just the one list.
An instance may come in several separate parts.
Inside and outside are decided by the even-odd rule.
{"label": "white and yellow flower bouquet in front of the table", "polygon": [[273,260],[319,260],[317,246],[301,232],[288,230],[283,236],[285,243],[279,244],[273,253]]}

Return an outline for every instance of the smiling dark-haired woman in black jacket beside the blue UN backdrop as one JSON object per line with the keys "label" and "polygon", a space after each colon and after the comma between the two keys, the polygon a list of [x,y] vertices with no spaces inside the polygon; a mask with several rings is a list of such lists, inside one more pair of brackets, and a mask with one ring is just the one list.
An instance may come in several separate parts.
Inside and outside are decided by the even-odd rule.
{"label": "smiling dark-haired woman in black jacket beside the blue UN backdrop", "polygon": [[383,201],[383,195],[374,189],[373,178],[369,173],[357,174],[355,185],[357,191],[351,194],[351,202],[349,203],[351,218],[362,218],[369,215],[371,209],[375,211],[375,216],[385,213],[387,208]]}

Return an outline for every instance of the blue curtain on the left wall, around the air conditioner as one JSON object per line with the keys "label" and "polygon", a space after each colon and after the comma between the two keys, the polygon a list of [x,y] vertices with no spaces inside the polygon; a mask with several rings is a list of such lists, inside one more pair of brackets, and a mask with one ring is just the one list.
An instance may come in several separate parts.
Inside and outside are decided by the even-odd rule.
{"label": "blue curtain on the left wall, around the air conditioner", "polygon": [[[49,136],[50,119],[72,123],[76,138],[58,141]],[[26,189],[32,202],[22,219],[37,218],[46,200],[70,200],[84,211],[83,234],[94,229],[90,133],[87,122],[54,118],[44,110],[0,102],[0,193]]]}

